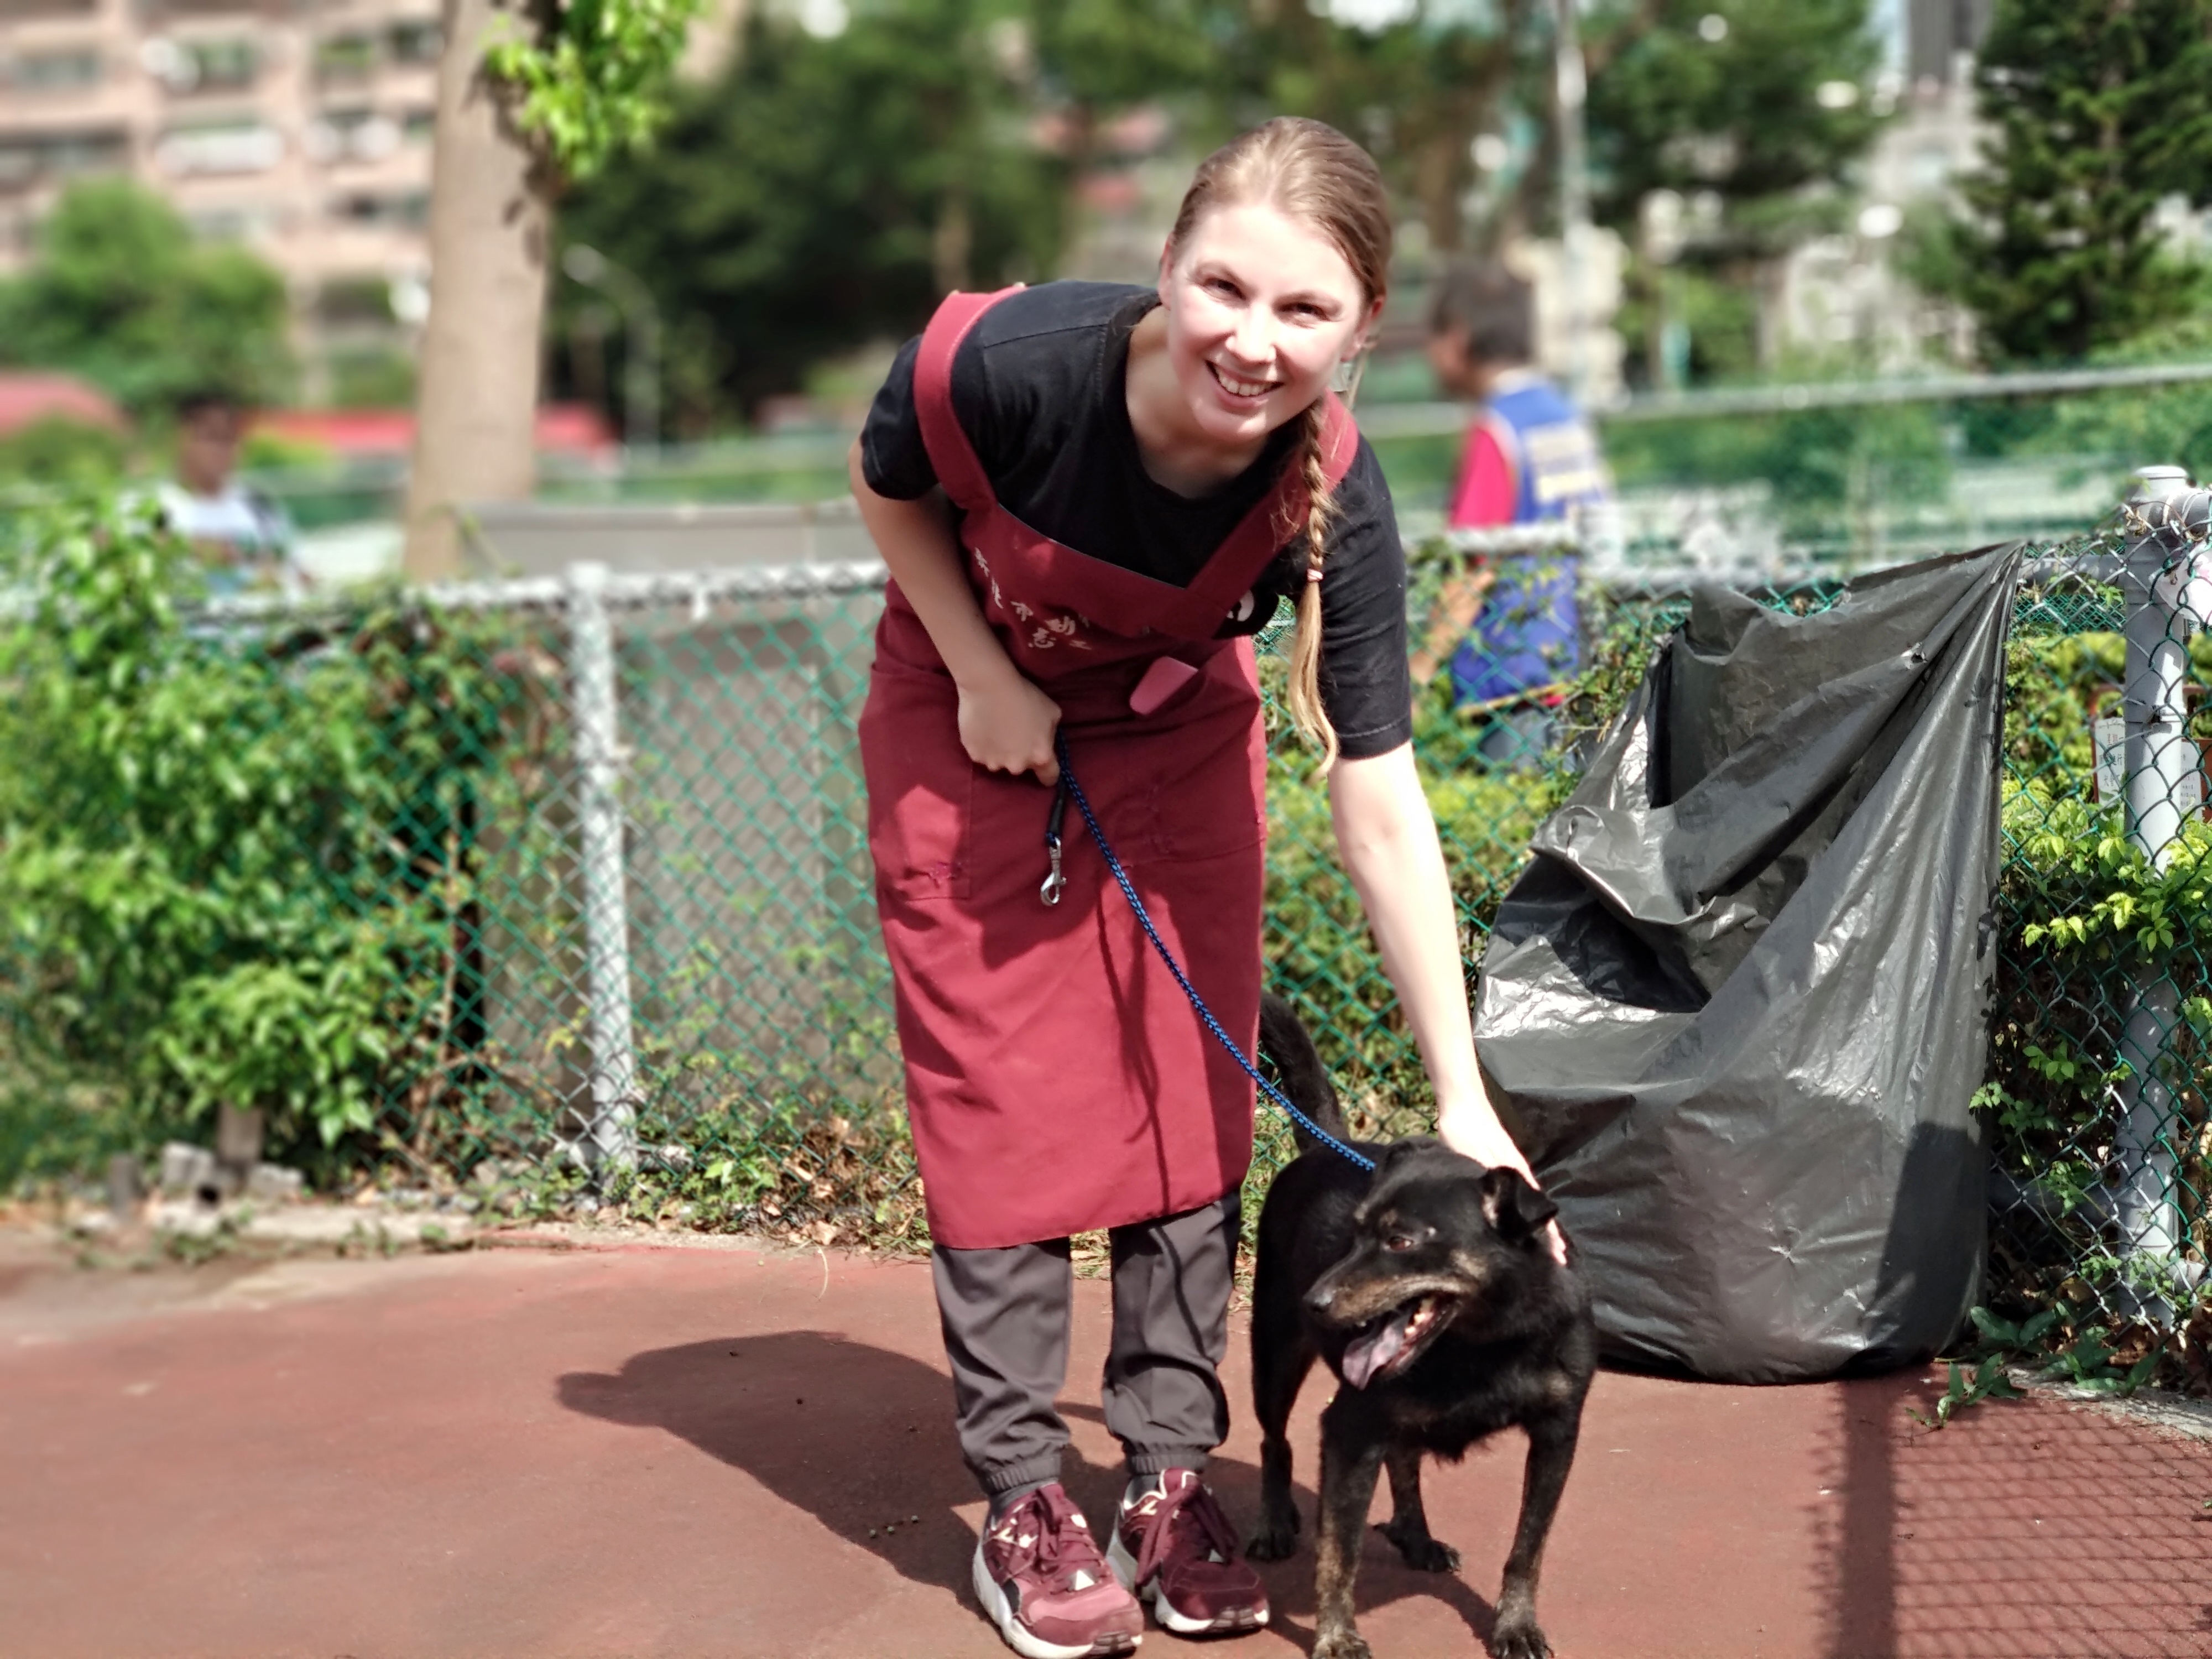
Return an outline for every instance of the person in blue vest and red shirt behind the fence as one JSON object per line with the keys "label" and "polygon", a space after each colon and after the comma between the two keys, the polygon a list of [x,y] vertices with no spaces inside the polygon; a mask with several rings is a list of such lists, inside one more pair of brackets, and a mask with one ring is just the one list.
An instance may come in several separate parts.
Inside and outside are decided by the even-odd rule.
{"label": "person in blue vest and red shirt behind the fence", "polygon": [[[1613,500],[1588,420],[1535,367],[1535,296],[1493,261],[1444,270],[1429,307],[1429,363],[1442,387],[1478,398],[1444,522],[1451,529],[1571,520]],[[1553,741],[1553,706],[1582,668],[1575,582],[1566,553],[1478,560],[1444,584],[1413,684],[1438,666],[1451,701],[1482,726],[1493,765],[1537,761]]]}

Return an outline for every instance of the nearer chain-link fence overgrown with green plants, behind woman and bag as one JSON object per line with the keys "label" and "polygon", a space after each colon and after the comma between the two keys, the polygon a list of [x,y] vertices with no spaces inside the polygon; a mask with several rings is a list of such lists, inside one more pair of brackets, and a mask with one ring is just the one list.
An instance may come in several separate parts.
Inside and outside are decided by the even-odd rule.
{"label": "nearer chain-link fence overgrown with green plants, behind woman and bag", "polygon": [[[2188,502],[2194,529],[2048,549],[2020,593],[1982,1091],[1993,1296],[2020,1305],[2172,1314],[2208,1243],[2212,648],[2190,619],[2212,580],[2190,586]],[[1504,549],[1526,593],[1573,575],[1548,535]],[[69,580],[104,568],[80,564]],[[1416,617],[1464,571],[1464,546],[1422,549]],[[577,566],[175,615],[93,604],[51,568],[31,586],[0,622],[18,1077],[80,1113],[248,1095],[332,1175],[507,1208],[925,1239],[856,754],[878,566]],[[1756,593],[1809,611],[1840,584]],[[1469,964],[1571,787],[1562,757],[1683,611],[1663,573],[1584,580],[1557,684],[1455,708],[1438,672],[1420,692]],[[1281,644],[1261,639],[1270,692]],[[1325,785],[1272,695],[1267,719],[1272,984],[1354,1128],[1413,1130],[1427,1084]],[[1287,1152],[1263,1124],[1254,1181]]]}

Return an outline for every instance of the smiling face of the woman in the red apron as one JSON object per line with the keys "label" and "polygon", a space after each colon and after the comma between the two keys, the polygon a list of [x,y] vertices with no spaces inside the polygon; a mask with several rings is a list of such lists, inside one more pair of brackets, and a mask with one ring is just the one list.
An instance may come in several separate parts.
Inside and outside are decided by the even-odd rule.
{"label": "smiling face of the woman in the red apron", "polygon": [[1159,301],[1190,420],[1232,447],[1301,416],[1383,310],[1336,243],[1265,204],[1199,219],[1161,254]]}

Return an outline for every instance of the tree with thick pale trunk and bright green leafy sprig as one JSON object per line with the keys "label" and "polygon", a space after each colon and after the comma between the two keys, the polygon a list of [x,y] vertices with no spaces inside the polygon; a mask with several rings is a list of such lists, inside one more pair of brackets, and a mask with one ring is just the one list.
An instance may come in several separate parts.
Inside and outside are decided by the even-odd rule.
{"label": "tree with thick pale trunk and bright green leafy sprig", "polygon": [[553,201],[653,135],[697,9],[447,0],[407,575],[458,568],[462,502],[529,495]]}

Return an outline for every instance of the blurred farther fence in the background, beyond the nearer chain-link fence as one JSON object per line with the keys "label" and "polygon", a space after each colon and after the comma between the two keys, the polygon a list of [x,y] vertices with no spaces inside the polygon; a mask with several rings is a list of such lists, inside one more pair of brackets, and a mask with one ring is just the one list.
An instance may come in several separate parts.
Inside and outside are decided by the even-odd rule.
{"label": "blurred farther fence in the background, beyond the nearer chain-link fence", "polygon": [[[1360,429],[1407,526],[1442,518],[1469,411],[1378,365]],[[1396,385],[1394,385],[1396,383]],[[1916,374],[1637,396],[1595,416],[1635,555],[1734,568],[1882,564],[2104,518],[2141,456],[2212,471],[2212,363],[2168,356],[2006,374]],[[546,456],[566,507],[821,502],[845,489],[849,431],[723,438],[619,456]],[[396,555],[405,465],[358,456],[261,471],[254,487],[325,568]],[[0,535],[35,491],[0,484]],[[491,535],[493,544],[498,535]]]}

